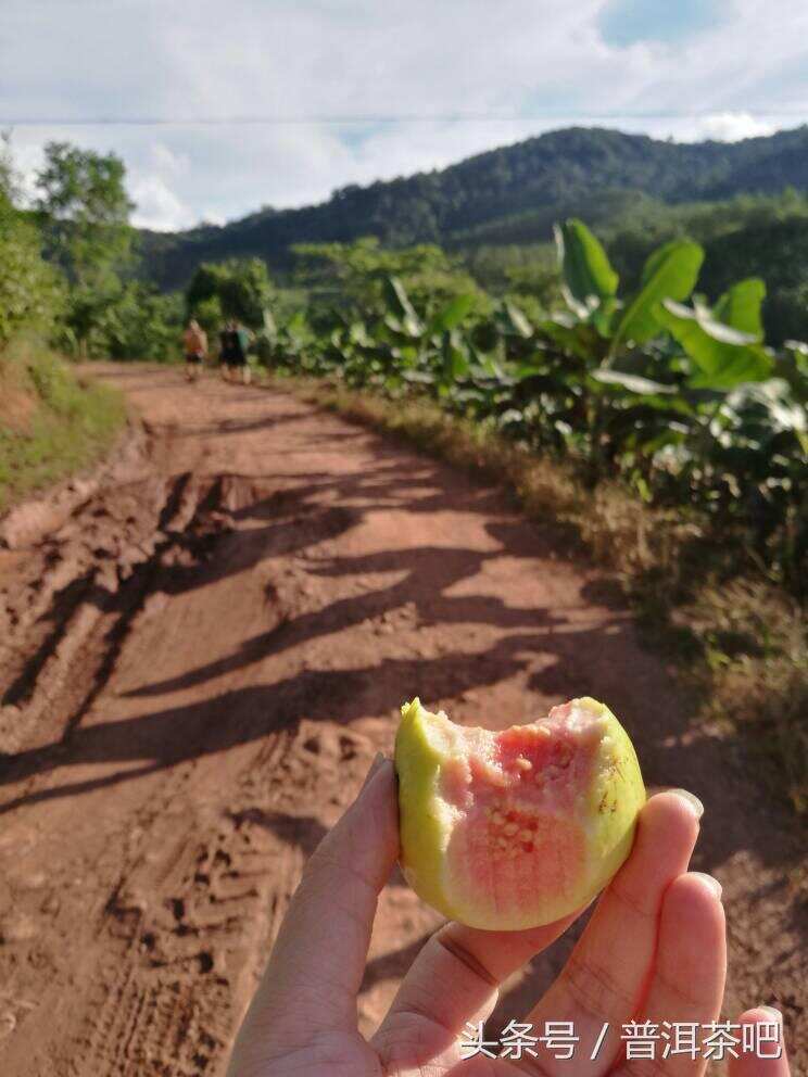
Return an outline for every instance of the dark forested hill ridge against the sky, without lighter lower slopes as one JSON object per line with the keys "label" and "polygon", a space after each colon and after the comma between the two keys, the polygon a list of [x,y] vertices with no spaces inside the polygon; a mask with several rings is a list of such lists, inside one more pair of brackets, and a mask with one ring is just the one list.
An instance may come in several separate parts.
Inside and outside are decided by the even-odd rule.
{"label": "dark forested hill ridge against the sky, without lighter lower slopes", "polygon": [[550,235],[556,217],[593,212],[601,193],[640,191],[667,202],[727,199],[808,188],[808,127],[742,142],[676,143],[643,135],[571,127],[469,157],[441,172],[351,186],[328,202],[264,210],[222,228],[143,232],[146,270],[164,287],[185,284],[201,261],[257,255],[278,269],[293,243],[350,241],[453,245],[476,230],[489,240],[519,217]]}

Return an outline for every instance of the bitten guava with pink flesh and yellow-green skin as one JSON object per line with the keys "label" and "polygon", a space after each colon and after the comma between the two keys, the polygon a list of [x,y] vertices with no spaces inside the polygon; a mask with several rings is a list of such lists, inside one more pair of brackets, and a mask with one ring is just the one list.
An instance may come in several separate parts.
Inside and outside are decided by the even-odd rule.
{"label": "bitten guava with pink flesh and yellow-green skin", "polygon": [[414,699],[395,769],[404,875],[470,927],[536,927],[585,905],[628,857],[645,802],[629,735],[590,698],[496,733]]}

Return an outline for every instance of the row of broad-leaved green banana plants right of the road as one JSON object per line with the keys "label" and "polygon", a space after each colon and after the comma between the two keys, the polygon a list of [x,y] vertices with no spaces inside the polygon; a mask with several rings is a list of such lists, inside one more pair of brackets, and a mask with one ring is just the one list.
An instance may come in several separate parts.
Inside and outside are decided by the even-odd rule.
{"label": "row of broad-leaved green banana plants right of the road", "polygon": [[301,315],[275,328],[275,350],[354,385],[430,394],[572,456],[592,482],[622,474],[647,499],[740,521],[761,557],[797,565],[808,548],[808,345],[766,346],[762,281],[742,280],[710,307],[694,293],[704,253],[680,239],[624,294],[582,221],[559,225],[556,240],[560,313],[531,320],[501,300],[481,317],[471,295],[420,309],[390,277],[381,307],[320,318],[318,340]]}

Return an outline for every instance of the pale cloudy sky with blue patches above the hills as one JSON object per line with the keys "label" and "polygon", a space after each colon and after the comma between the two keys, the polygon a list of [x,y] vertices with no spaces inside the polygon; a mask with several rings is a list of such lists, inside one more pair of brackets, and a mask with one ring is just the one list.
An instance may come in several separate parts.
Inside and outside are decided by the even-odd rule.
{"label": "pale cloudy sky with blue patches above the hills", "polygon": [[223,224],[579,124],[808,122],[805,0],[0,0],[0,126],[114,151],[136,224]]}

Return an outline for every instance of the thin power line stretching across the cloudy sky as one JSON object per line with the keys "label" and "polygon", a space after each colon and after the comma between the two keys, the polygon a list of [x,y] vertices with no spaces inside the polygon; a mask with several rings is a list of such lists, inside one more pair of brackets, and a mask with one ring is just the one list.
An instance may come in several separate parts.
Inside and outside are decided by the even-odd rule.
{"label": "thin power line stretching across the cloudy sky", "polygon": [[636,111],[611,110],[607,112],[542,111],[529,113],[456,112],[456,113],[403,113],[395,115],[236,115],[236,116],[0,116],[0,127],[281,127],[281,126],[394,126],[396,124],[481,124],[526,123],[538,119],[598,121],[627,119],[705,119],[721,115],[744,115],[753,119],[799,117],[808,119],[808,106],[779,110],[680,110]]}

